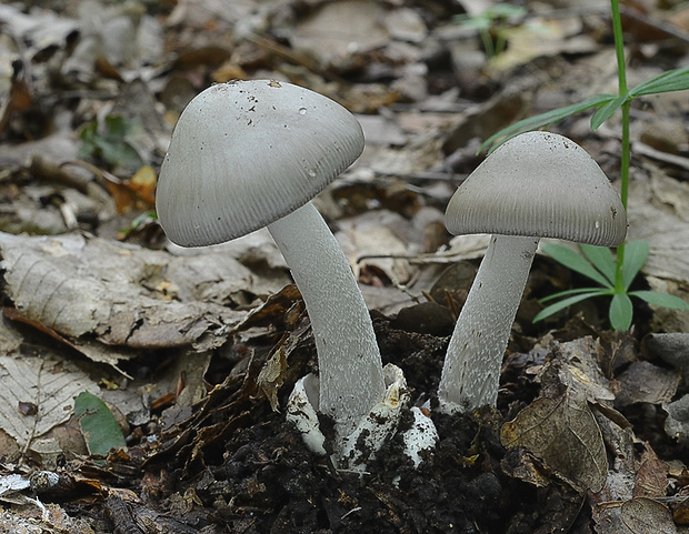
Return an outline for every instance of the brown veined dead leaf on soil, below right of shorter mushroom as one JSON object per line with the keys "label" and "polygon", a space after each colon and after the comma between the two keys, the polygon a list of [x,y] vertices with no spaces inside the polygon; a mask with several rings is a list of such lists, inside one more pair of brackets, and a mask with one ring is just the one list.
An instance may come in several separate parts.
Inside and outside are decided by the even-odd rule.
{"label": "brown veined dead leaf on soil, below right of shorter mushroom", "polygon": [[526,449],[579,490],[599,492],[606,483],[608,460],[600,429],[580,396],[537,399],[502,425],[500,442]]}

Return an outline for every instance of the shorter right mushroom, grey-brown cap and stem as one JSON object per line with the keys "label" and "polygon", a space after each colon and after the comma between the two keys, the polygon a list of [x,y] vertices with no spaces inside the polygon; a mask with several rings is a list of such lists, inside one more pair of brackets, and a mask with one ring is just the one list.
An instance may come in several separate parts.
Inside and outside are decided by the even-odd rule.
{"label": "shorter right mushroom, grey-brown cap and stem", "polygon": [[453,234],[491,233],[450,339],[438,389],[441,410],[496,404],[500,366],[540,238],[616,246],[627,215],[593,159],[571,140],[527,132],[502,145],[450,200]]}

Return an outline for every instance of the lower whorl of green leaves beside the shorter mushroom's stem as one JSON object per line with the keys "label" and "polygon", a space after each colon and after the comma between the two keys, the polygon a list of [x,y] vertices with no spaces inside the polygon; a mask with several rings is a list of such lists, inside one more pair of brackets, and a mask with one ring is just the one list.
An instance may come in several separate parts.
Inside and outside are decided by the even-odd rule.
{"label": "lower whorl of green leaves beside the shorter mushroom's stem", "polygon": [[557,299],[561,300],[541,310],[533,318],[535,322],[595,296],[612,298],[608,316],[610,319],[610,326],[613,330],[628,330],[631,326],[633,306],[630,296],[636,296],[656,306],[675,310],[689,309],[689,305],[679,296],[658,291],[629,291],[631,283],[648,258],[650,248],[647,241],[631,241],[627,243],[625,263],[622,264],[622,286],[619,290],[616,288],[617,262],[610,249],[588,244],[580,244],[579,248],[581,254],[559,244],[546,244],[542,246],[543,252],[550,258],[572,271],[583,274],[598,285],[561,291],[542,299],[541,303]]}

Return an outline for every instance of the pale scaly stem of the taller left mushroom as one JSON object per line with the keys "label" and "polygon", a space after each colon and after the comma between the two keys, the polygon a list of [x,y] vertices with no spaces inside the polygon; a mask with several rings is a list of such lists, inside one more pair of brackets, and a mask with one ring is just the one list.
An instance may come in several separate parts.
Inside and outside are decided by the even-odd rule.
{"label": "pale scaly stem of the taller left mushroom", "polygon": [[316,206],[308,202],[268,225],[301,291],[319,367],[319,411],[350,434],[386,386],[373,325],[355,275]]}

